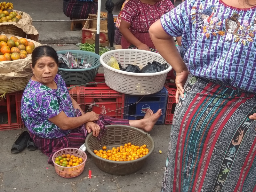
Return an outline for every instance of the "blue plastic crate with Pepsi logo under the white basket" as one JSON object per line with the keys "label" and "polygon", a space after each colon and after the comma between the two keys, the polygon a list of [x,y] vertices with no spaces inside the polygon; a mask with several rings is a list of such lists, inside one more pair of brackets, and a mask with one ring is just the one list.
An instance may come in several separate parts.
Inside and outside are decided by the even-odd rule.
{"label": "blue plastic crate with Pepsi logo under the white basket", "polygon": [[[124,108],[124,119],[129,119],[129,120],[142,119],[145,116],[147,109],[151,109],[152,111],[154,111],[154,113],[156,113],[158,109],[162,109],[162,115],[160,116],[156,124],[164,124],[166,106],[168,101],[167,89],[163,88],[161,91],[155,94],[145,95],[143,98],[142,97],[143,96],[133,96],[133,95],[125,94],[124,106],[127,106],[127,107]],[[139,100],[140,100],[139,103],[133,104],[138,102]],[[125,114],[129,114],[129,115],[125,115]],[[130,116],[130,115],[133,115],[133,116]]]}

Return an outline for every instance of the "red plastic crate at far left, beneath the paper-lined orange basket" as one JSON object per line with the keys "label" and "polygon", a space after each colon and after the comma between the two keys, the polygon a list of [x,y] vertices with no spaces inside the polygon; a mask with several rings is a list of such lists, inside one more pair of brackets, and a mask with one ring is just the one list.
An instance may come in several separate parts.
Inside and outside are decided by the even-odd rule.
{"label": "red plastic crate at far left, beneath the paper-lined orange basket", "polygon": [[0,98],[0,131],[24,128],[20,116],[22,91],[7,93]]}

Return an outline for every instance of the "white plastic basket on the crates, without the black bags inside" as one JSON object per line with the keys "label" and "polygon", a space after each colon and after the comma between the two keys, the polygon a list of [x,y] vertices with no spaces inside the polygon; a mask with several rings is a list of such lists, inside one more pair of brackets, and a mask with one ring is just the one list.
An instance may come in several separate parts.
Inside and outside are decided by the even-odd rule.
{"label": "white plastic basket on the crates, without the black bags inside", "polygon": [[100,63],[104,68],[106,84],[117,92],[129,95],[149,95],[159,92],[164,87],[167,73],[172,70],[172,67],[169,65],[168,69],[157,73],[132,73],[121,71],[107,65],[112,56],[120,62],[123,68],[134,62],[137,65],[141,64],[143,67],[146,66],[148,62],[152,63],[153,61],[158,61],[161,64],[167,62],[160,54],[143,50],[118,49],[103,53],[100,56]]}

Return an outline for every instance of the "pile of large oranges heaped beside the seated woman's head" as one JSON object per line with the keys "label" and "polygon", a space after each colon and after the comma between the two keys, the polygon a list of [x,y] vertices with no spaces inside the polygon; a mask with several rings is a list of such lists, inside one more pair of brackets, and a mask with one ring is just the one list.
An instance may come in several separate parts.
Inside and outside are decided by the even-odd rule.
{"label": "pile of large oranges heaped beside the seated woman's head", "polygon": [[[10,39],[5,35],[0,35],[0,61],[11,61],[25,59],[35,49],[35,44],[25,38],[18,39],[12,36]],[[1,56],[3,55],[3,56]]]}

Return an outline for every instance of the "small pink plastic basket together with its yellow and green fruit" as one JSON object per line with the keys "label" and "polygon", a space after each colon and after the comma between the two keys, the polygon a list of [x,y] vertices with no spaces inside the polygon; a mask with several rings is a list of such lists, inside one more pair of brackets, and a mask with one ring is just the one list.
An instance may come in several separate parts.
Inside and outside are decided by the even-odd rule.
{"label": "small pink plastic basket together with its yellow and green fruit", "polygon": [[60,149],[52,156],[56,173],[64,178],[80,175],[84,171],[86,159],[84,151],[77,148]]}

